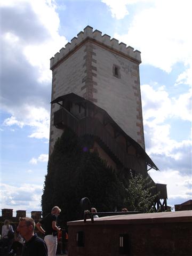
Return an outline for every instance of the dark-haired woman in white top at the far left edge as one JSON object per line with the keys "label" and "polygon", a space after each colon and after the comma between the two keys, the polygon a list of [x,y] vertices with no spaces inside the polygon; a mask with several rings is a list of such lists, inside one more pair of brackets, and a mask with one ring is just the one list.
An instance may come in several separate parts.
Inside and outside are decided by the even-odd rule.
{"label": "dark-haired woman in white top at the far left edge", "polygon": [[8,237],[8,232],[13,231],[13,227],[10,225],[9,220],[5,220],[2,226],[2,239],[0,240],[1,255],[7,255],[11,249],[13,243],[13,238]]}

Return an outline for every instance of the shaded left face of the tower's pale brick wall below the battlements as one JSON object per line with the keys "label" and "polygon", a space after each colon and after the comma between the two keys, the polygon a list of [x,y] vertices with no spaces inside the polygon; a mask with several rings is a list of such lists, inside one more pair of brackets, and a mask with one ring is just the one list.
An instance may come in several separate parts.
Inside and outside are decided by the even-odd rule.
{"label": "shaded left face of the tower's pale brick wall below the battlements", "polygon": [[[69,57],[60,63],[53,70],[52,80],[52,99],[54,100],[59,96],[76,93],[83,96],[85,89],[81,90],[83,86],[82,79],[85,76],[85,46],[82,46],[78,51],[69,55]],[[51,125],[50,125],[50,153],[52,152],[55,141],[61,136],[62,130],[53,126],[54,112],[59,109],[58,104],[53,104],[51,107]]]}

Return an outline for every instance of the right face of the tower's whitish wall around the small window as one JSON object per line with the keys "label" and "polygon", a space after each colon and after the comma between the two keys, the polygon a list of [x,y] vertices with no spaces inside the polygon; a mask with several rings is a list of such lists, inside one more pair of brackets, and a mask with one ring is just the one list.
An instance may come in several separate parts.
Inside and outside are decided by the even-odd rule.
{"label": "right face of the tower's whitish wall around the small window", "polygon": [[[97,76],[93,77],[93,81],[97,82],[95,104],[105,109],[126,134],[144,148],[142,120],[138,112],[138,109],[142,111],[141,98],[138,95],[138,90],[140,92],[138,64],[106,51],[98,45],[94,45],[93,51],[96,54],[94,59],[97,60],[92,64],[97,67]],[[120,67],[121,78],[113,75],[113,65]]]}

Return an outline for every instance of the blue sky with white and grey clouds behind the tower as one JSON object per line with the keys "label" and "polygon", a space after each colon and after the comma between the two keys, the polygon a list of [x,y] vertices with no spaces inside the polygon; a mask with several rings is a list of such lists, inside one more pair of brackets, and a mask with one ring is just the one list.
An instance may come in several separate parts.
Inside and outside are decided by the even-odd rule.
{"label": "blue sky with white and grey clouds behind the tower", "polygon": [[84,27],[141,51],[146,151],[168,204],[191,199],[192,2],[1,1],[1,209],[41,210],[50,58]]}

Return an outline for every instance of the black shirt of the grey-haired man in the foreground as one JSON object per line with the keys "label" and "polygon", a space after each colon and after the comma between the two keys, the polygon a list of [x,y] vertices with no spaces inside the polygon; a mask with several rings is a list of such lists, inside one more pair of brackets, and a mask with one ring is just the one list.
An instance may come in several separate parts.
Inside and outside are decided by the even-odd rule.
{"label": "black shirt of the grey-haired man in the foreground", "polygon": [[47,256],[45,241],[34,235],[28,242],[24,242],[22,256]]}

